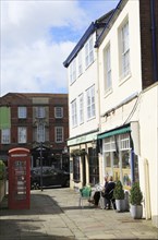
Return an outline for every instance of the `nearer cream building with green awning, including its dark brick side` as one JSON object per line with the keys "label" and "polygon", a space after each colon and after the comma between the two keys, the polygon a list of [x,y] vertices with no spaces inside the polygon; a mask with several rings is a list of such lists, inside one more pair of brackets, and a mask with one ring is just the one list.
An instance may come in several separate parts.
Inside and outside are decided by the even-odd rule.
{"label": "nearer cream building with green awning, including its dark brick side", "polygon": [[96,47],[100,179],[106,173],[112,175],[126,190],[138,180],[144,195],[144,217],[151,217],[158,227],[156,20],[158,2],[120,1]]}

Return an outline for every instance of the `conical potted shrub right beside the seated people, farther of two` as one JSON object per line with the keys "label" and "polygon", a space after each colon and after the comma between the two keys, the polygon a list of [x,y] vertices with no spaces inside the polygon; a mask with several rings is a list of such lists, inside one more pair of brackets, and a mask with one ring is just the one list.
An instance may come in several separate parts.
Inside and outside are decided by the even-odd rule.
{"label": "conical potted shrub right beside the seated people, farther of two", "polygon": [[122,182],[120,180],[118,180],[116,183],[116,187],[113,190],[113,197],[116,199],[117,212],[125,211],[124,190],[123,190]]}

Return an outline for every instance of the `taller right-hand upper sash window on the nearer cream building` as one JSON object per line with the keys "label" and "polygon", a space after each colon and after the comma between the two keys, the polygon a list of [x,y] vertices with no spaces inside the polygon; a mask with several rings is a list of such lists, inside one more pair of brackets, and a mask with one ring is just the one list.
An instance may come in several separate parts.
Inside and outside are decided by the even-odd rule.
{"label": "taller right-hand upper sash window on the nearer cream building", "polygon": [[123,79],[130,73],[129,22],[125,22],[120,29],[120,73]]}

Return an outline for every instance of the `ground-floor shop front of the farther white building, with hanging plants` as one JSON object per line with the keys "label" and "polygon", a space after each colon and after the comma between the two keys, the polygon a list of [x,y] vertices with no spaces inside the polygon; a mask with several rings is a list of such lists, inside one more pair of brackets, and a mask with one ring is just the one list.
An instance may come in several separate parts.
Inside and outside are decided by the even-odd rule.
{"label": "ground-floor shop front of the farther white building, with hanging plants", "polygon": [[70,139],[70,187],[95,185],[99,182],[97,132]]}

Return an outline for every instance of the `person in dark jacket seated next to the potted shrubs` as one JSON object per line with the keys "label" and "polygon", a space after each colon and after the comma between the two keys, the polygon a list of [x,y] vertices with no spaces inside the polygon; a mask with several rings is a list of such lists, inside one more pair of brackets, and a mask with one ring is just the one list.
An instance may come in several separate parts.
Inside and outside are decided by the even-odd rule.
{"label": "person in dark jacket seated next to the potted shrubs", "polygon": [[105,209],[111,208],[111,200],[113,207],[116,209],[116,201],[113,200],[113,190],[114,190],[116,183],[113,181],[112,176],[109,178],[109,182],[105,189],[105,194],[102,195],[105,197]]}

